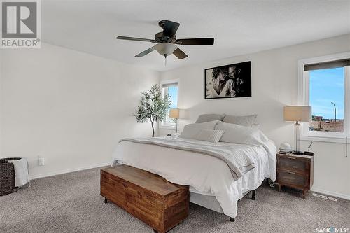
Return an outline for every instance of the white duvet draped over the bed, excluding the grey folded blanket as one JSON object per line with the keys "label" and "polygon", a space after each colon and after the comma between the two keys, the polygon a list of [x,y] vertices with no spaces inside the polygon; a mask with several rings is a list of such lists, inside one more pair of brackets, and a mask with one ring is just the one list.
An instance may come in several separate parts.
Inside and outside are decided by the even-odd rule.
{"label": "white duvet draped over the bed, excluding the grey folded blanket", "polygon": [[258,188],[265,177],[273,181],[276,179],[276,147],[272,142],[268,145],[269,150],[257,145],[219,144],[248,148],[255,168],[235,181],[228,164],[218,157],[132,141],[118,144],[113,153],[113,163],[127,164],[158,174],[172,183],[189,185],[190,192],[215,196],[223,212],[235,218],[237,201],[244,192]]}

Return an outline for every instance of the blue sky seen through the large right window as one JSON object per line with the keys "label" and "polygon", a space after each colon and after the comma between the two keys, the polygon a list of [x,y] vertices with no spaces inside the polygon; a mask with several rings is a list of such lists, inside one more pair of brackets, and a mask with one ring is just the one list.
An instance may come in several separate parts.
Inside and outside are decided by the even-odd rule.
{"label": "blue sky seen through the large right window", "polygon": [[334,119],[344,119],[344,67],[309,71],[309,104],[312,115]]}

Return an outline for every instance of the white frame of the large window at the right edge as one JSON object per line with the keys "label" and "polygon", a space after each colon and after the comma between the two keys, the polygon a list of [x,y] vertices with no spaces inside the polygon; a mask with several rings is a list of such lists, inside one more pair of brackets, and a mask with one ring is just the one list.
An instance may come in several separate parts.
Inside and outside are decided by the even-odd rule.
{"label": "white frame of the large window at the right edge", "polygon": [[[297,80],[297,104],[309,106],[309,71],[304,71],[304,65],[316,64],[321,62],[332,62],[339,59],[349,59],[350,52],[342,52],[335,55],[326,55],[322,57],[312,57],[300,59],[297,62],[298,80]],[[350,141],[350,66],[344,66],[344,132],[316,132],[309,131],[309,122],[301,122],[300,140],[304,141],[325,141],[334,143],[349,143]],[[348,139],[349,138],[349,139]]]}

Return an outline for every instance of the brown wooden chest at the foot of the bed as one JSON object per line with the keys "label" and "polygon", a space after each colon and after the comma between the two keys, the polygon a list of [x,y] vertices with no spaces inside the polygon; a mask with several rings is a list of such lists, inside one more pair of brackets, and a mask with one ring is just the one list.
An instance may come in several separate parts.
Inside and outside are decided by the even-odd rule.
{"label": "brown wooden chest at the foot of the bed", "polygon": [[161,233],[188,216],[188,186],[135,167],[101,169],[101,195]]}

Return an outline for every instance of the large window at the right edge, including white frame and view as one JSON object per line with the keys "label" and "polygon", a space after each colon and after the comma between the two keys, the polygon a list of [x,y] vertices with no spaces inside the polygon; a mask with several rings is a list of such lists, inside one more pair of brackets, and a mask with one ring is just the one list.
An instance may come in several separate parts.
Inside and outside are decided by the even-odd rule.
{"label": "large window at the right edge, including white frame and view", "polygon": [[298,63],[298,102],[312,111],[311,121],[302,124],[301,139],[345,142],[350,136],[350,52]]}

